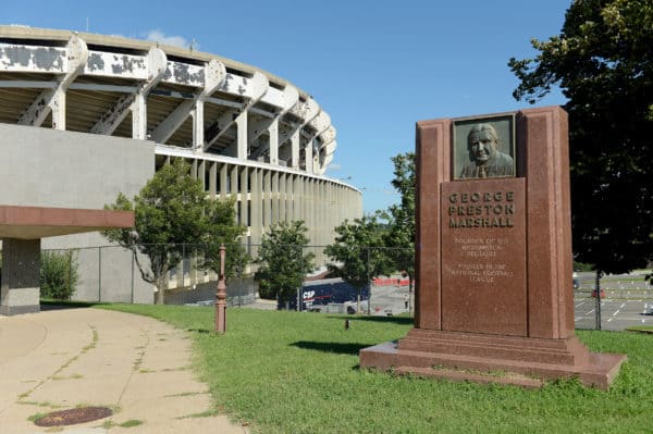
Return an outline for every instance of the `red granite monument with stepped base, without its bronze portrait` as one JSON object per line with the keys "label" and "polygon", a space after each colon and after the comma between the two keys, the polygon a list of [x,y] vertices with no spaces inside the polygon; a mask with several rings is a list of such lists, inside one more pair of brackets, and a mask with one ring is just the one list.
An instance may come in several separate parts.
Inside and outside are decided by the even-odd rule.
{"label": "red granite monument with stepped base, without its bronze portrait", "polygon": [[458,179],[456,120],[417,124],[415,327],[362,349],[360,365],[607,388],[626,357],[590,352],[574,331],[567,114],[552,107],[478,117],[504,115],[516,125],[509,177]]}

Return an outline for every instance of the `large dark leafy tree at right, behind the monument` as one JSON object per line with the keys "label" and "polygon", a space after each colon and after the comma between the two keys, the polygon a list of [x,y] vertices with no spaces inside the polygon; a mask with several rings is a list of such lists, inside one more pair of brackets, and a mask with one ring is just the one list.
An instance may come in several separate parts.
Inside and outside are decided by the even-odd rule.
{"label": "large dark leafy tree at right, behind the monument", "polygon": [[516,99],[568,98],[577,260],[621,273],[653,259],[653,3],[577,0],[558,36],[510,59]]}

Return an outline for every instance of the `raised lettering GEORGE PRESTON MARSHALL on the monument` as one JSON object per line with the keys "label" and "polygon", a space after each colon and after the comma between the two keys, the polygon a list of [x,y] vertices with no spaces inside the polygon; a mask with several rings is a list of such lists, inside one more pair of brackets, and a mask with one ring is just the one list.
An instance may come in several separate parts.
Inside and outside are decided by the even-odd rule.
{"label": "raised lettering GEORGE PRESTON MARSHALL on the monument", "polygon": [[514,226],[514,191],[454,193],[448,201],[452,228]]}

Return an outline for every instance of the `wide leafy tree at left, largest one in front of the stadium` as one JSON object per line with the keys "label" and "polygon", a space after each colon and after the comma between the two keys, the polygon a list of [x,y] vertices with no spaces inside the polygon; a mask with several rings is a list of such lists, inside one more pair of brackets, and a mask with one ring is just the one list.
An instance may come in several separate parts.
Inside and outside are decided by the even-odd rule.
{"label": "wide leafy tree at left, largest one in front of the stadium", "polygon": [[[133,210],[134,228],[109,230],[103,234],[134,255],[143,280],[158,288],[157,303],[164,302],[168,272],[182,260],[186,244],[214,240],[221,225],[241,233],[234,221],[233,201],[211,201],[201,182],[189,175],[189,165],[182,159],[161,168],[134,197],[132,202],[122,193],[111,210]],[[230,232],[231,234],[231,232]],[[230,238],[231,239],[231,238]],[[141,253],[149,264],[140,261]]]}

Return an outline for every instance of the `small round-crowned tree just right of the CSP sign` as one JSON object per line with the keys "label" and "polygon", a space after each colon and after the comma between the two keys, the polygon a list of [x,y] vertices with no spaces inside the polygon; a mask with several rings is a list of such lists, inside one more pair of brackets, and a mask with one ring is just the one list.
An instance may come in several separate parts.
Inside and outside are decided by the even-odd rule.
{"label": "small round-crowned tree just right of the CSP sign", "polygon": [[375,215],[364,215],[353,223],[345,220],[335,227],[335,243],[324,249],[324,253],[335,261],[329,264],[329,271],[356,288],[360,310],[362,289],[369,287],[372,276],[389,270],[382,227]]}

